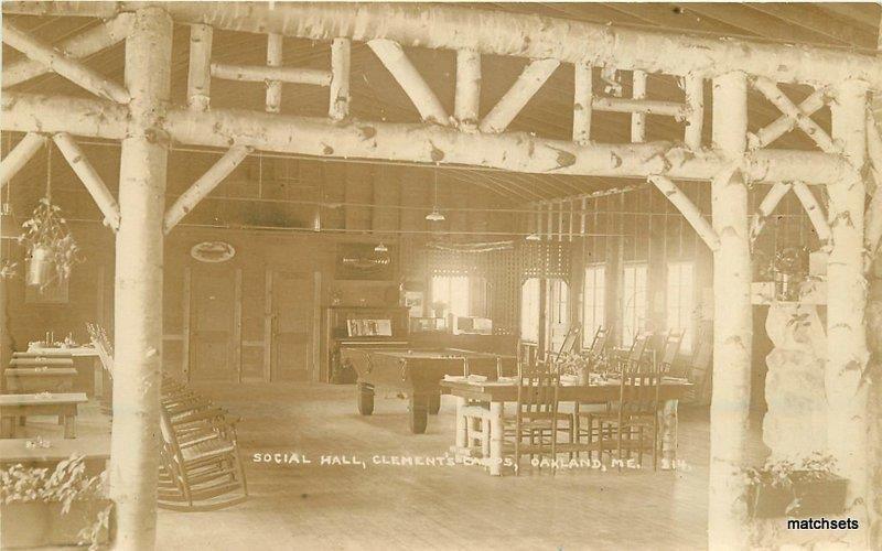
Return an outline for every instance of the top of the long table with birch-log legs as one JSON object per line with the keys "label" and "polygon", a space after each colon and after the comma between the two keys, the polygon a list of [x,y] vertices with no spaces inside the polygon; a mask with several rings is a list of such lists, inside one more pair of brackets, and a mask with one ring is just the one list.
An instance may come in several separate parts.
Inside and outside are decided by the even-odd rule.
{"label": "top of the long table with birch-log legs", "polygon": [[[666,377],[658,391],[660,400],[678,400],[686,396],[692,387],[691,382],[684,379]],[[451,395],[471,400],[487,402],[517,401],[517,383],[515,381],[466,381],[442,380],[441,388],[448,389]],[[558,400],[564,402],[606,402],[619,398],[620,383],[612,380],[599,385],[567,385],[561,383],[558,390]]]}

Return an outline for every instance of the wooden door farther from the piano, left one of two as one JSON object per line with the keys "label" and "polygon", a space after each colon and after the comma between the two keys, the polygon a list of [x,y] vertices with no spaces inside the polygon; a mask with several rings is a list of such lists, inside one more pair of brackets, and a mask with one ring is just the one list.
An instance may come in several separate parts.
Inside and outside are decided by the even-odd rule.
{"label": "wooden door farther from the piano, left one of two", "polygon": [[196,268],[191,278],[190,379],[237,380],[236,272]]}

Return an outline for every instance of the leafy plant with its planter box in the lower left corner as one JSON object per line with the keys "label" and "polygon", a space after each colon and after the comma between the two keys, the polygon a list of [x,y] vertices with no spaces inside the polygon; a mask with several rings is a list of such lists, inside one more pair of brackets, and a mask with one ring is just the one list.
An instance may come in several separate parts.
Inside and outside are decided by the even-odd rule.
{"label": "leafy plant with its planter box in the lower left corner", "polygon": [[0,469],[0,548],[106,543],[112,501],[105,497],[105,476],[88,476],[83,456],[54,469]]}

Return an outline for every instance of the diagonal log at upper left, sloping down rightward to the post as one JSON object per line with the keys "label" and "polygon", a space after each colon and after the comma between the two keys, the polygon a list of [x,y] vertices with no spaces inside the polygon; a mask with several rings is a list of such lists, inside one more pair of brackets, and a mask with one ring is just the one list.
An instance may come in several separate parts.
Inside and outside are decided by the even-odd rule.
{"label": "diagonal log at upper left, sloping down rightward to the post", "polygon": [[30,60],[43,64],[49,69],[86,88],[87,90],[118,104],[129,102],[129,93],[122,86],[109,80],[69,57],[51,45],[31,36],[13,23],[3,19],[3,43],[14,47]]}

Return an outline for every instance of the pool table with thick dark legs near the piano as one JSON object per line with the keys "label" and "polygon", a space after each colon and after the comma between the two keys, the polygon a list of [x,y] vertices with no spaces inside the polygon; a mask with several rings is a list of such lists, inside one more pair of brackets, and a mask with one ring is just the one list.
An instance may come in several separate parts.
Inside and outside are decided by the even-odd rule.
{"label": "pool table with thick dark legs near the piano", "polygon": [[374,389],[398,390],[410,400],[410,432],[422,434],[429,413],[441,408],[441,381],[445,375],[483,375],[496,379],[516,371],[514,356],[461,350],[455,348],[357,348],[341,347],[341,361],[358,374],[358,412],[374,412]]}

